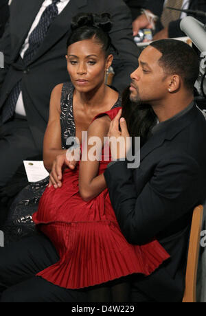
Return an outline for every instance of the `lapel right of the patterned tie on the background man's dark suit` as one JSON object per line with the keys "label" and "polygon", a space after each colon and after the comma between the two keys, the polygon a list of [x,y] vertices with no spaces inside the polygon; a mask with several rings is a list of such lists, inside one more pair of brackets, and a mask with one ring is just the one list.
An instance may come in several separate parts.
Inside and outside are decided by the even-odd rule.
{"label": "lapel right of the patterned tie on the background man's dark suit", "polygon": [[[45,41],[43,45],[39,48],[36,56],[34,56],[34,60],[38,59],[41,55],[43,55],[47,50],[56,43],[65,33],[70,32],[71,19],[78,13],[80,8],[83,8],[87,5],[87,0],[70,0],[65,9],[58,15],[58,17],[54,20],[52,25],[49,27],[47,35],[45,37]],[[66,52],[66,47],[65,47]],[[34,62],[32,60],[32,63]]]}

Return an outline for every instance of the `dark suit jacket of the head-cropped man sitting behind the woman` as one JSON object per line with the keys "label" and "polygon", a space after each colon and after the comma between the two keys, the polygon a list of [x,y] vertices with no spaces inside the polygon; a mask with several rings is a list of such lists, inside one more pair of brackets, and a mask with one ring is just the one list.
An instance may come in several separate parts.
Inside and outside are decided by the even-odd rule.
{"label": "dark suit jacket of the head-cropped man sitting behind the woman", "polygon": [[120,91],[130,82],[130,74],[137,68],[139,49],[132,37],[130,11],[122,0],[71,0],[49,27],[43,45],[32,63],[24,67],[19,60],[21,47],[43,0],[13,0],[10,23],[0,41],[5,55],[5,68],[0,69],[0,111],[16,82],[22,79],[23,101],[36,146],[43,147],[43,136],[49,117],[49,98],[52,89],[67,82],[67,38],[71,32],[72,16],[80,12],[110,12],[113,19],[111,38],[119,50],[113,67],[113,85]]}

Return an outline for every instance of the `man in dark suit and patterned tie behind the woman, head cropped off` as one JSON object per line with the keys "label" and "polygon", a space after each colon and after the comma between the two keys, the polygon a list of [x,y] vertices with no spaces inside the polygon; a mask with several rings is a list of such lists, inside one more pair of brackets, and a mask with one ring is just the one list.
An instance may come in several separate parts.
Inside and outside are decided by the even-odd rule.
{"label": "man in dark suit and patterned tie behind the woman, head cropped off", "polygon": [[[52,10],[54,20],[47,21],[49,29],[40,38],[46,10],[47,16]],[[110,35],[119,51],[113,63],[116,89],[126,87],[130,72],[137,67],[139,50],[133,42],[130,11],[122,0],[13,0],[10,23],[0,41],[5,58],[5,67],[0,69],[0,187],[23,159],[42,153],[50,94],[56,84],[69,80],[66,43],[71,18],[80,12],[111,14]],[[33,45],[36,27],[39,47]]]}

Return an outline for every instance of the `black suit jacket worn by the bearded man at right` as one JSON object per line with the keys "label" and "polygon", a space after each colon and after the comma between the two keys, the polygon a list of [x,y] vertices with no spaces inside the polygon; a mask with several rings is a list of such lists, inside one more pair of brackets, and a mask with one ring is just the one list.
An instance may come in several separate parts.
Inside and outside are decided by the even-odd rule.
{"label": "black suit jacket worn by the bearded man at right", "polygon": [[196,106],[163,124],[141,148],[141,164],[108,167],[105,179],[117,221],[128,242],[157,238],[171,258],[134,282],[157,302],[181,302],[188,234],[194,207],[206,194],[206,122]]}

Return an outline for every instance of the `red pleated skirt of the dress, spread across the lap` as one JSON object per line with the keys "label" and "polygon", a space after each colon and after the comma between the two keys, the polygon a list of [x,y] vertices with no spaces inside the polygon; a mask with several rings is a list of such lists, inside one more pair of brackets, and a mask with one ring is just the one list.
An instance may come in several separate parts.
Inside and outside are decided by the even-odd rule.
{"label": "red pleated skirt of the dress, spread across the lap", "polygon": [[133,273],[150,275],[170,258],[157,240],[141,246],[126,241],[108,190],[83,201],[78,170],[65,172],[62,188],[45,190],[33,220],[60,256],[37,275],[66,289],[83,289]]}

